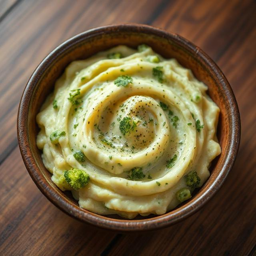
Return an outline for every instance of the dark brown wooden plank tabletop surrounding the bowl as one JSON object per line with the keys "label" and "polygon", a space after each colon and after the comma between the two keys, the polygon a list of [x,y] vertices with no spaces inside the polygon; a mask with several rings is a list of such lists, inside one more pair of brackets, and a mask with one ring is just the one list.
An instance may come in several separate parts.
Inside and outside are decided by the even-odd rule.
{"label": "dark brown wooden plank tabletop surrounding the bowl", "polygon": [[[241,114],[236,164],[200,212],[164,230],[117,234],[66,216],[37,189],[16,138],[33,70],[71,36],[139,22],[200,46],[228,78]],[[256,2],[253,0],[0,1],[0,255],[255,255]]]}

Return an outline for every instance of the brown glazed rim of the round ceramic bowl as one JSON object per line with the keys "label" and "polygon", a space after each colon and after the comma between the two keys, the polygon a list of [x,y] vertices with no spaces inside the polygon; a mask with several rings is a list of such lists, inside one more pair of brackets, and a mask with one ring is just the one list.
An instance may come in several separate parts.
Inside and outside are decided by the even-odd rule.
{"label": "brown glazed rim of the round ceramic bowl", "polygon": [[[52,186],[47,182],[46,178],[40,171],[40,168],[36,164],[36,160],[32,154],[32,148],[30,148],[29,144],[29,136],[28,136],[28,111],[30,100],[33,94],[33,90],[38,82],[38,77],[43,74],[44,70],[50,65],[52,61],[58,58],[58,55],[66,50],[68,50],[71,46],[77,45],[79,42],[82,42],[84,38],[92,37],[95,35],[100,35],[104,33],[111,33],[113,31],[132,31],[137,33],[146,33],[151,35],[156,35],[158,37],[167,38],[176,42],[178,45],[186,48],[193,54],[196,55],[196,58],[200,60],[200,62],[204,63],[205,66],[208,67],[211,72],[213,72],[214,76],[218,79],[218,83],[223,87],[225,94],[228,97],[228,105],[230,107],[230,122],[231,129],[229,136],[230,147],[228,148],[224,160],[224,165],[222,166],[220,172],[218,173],[216,179],[210,184],[208,190],[206,190],[201,196],[194,197],[185,205],[182,205],[175,210],[167,212],[166,214],[156,216],[153,218],[142,219],[142,220],[119,220],[114,218],[108,218],[107,216],[101,216],[98,214],[94,214],[92,212],[86,211],[71,201],[68,201],[64,196],[58,195]],[[166,226],[170,226],[180,220],[194,214],[198,211],[206,202],[212,198],[212,196],[217,192],[217,190],[222,186],[224,180],[226,179],[228,172],[232,168],[240,143],[240,116],[239,110],[236,103],[236,99],[234,93],[225,78],[224,74],[220,70],[220,68],[215,64],[215,62],[205,54],[200,48],[186,40],[185,38],[179,36],[178,34],[170,34],[164,30],[160,30],[158,28],[154,28],[152,26],[142,25],[142,24],[120,24],[120,25],[111,25],[111,26],[103,26],[99,28],[94,28],[88,30],[86,32],[82,32],[62,44],[56,47],[44,60],[39,64],[36,68],[32,76],[30,77],[24,92],[22,94],[22,98],[20,101],[20,106],[18,110],[18,122],[17,122],[17,132],[18,132],[18,143],[20,146],[20,152],[22,158],[24,160],[24,164],[30,174],[31,178],[35,182],[36,186],[41,190],[41,192],[53,203],[55,206],[60,208],[66,214],[86,222],[88,224],[92,224],[94,226],[98,226],[100,228],[106,228],[109,230],[116,231],[145,231],[145,230],[154,230],[158,228],[164,228]]]}

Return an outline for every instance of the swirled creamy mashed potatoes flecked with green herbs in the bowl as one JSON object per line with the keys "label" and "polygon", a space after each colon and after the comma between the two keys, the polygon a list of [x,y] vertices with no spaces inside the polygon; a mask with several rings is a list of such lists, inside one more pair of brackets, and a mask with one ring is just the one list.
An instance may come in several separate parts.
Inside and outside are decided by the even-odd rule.
{"label": "swirled creamy mashed potatoes flecked with green herbs in the bowl", "polygon": [[[72,62],[36,119],[52,181],[98,214],[164,214],[204,184],[220,154],[219,108],[207,86],[175,59],[138,49]],[[90,182],[72,189],[64,178],[71,168]]]}

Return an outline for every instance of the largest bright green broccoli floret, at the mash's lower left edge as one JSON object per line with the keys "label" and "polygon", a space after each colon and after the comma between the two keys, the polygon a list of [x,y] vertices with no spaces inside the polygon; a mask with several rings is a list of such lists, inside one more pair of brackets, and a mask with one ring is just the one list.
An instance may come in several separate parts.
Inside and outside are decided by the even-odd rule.
{"label": "largest bright green broccoli floret, at the mash's lower left edge", "polygon": [[80,169],[71,168],[64,172],[66,182],[75,190],[84,188],[90,181],[89,175]]}

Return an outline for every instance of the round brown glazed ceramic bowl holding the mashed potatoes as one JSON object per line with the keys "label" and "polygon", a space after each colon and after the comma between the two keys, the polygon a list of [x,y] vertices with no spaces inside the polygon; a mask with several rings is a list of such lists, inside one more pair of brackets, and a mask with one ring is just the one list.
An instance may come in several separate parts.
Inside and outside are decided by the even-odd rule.
{"label": "round brown glazed ceramic bowl holding the mashed potatoes", "polygon": [[[165,58],[176,58],[190,68],[209,88],[210,97],[220,108],[218,138],[222,153],[214,160],[210,178],[184,204],[161,216],[125,220],[100,216],[79,207],[71,195],[52,182],[41,152],[36,146],[36,114],[56,79],[73,60],[85,59],[118,44],[136,47],[148,44]],[[240,143],[240,116],[236,99],[222,71],[200,48],[178,36],[141,24],[122,24],[88,30],[54,49],[36,68],[24,89],[18,111],[18,142],[25,166],[42,193],[70,216],[101,228],[117,231],[145,231],[170,226],[199,210],[220,188],[232,168]]]}

